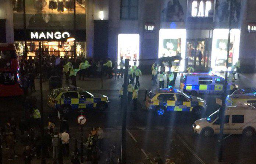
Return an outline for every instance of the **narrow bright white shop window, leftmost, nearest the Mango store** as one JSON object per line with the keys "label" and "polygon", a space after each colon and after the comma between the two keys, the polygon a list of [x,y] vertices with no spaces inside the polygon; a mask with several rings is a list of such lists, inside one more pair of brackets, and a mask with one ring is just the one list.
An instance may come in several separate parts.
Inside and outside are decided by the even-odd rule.
{"label": "narrow bright white shop window, leftmost, nearest the Mango store", "polygon": [[118,55],[117,60],[129,59],[129,65],[134,62],[139,66],[139,34],[118,34]]}

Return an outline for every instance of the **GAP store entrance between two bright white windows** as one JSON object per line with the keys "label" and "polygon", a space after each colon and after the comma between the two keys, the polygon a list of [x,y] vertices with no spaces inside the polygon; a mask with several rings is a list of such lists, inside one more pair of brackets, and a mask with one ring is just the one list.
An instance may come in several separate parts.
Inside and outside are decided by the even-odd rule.
{"label": "GAP store entrance between two bright white windows", "polygon": [[210,67],[211,39],[187,39],[186,68]]}

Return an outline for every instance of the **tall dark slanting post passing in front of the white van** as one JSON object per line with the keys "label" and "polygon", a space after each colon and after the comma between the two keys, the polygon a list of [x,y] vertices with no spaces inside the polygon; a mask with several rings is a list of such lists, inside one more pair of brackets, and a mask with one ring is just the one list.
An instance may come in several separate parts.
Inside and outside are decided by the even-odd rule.
{"label": "tall dark slanting post passing in front of the white van", "polygon": [[225,82],[223,86],[223,95],[222,95],[222,104],[219,111],[219,119],[220,122],[220,134],[218,138],[218,161],[221,162],[223,160],[223,130],[224,130],[224,117],[225,117],[225,100],[227,97],[227,83],[228,83],[228,58],[230,52],[230,31],[231,31],[231,21],[232,21],[232,5],[233,0],[230,0],[230,8],[229,8],[229,31],[228,31],[228,45],[227,45],[227,59],[226,59],[226,72],[225,72]]}

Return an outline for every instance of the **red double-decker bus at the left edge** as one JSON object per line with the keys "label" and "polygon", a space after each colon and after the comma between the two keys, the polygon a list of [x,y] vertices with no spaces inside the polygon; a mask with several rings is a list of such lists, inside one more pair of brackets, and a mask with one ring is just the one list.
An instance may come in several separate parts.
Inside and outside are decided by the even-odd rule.
{"label": "red double-decker bus at the left edge", "polygon": [[0,43],[0,97],[23,95],[14,44]]}

